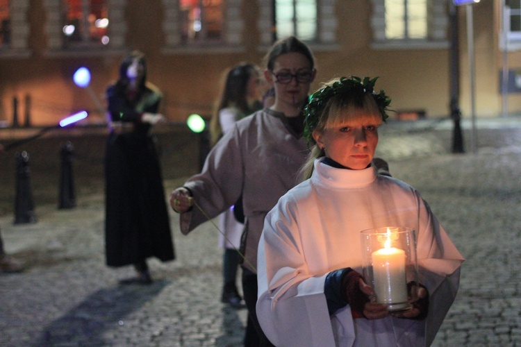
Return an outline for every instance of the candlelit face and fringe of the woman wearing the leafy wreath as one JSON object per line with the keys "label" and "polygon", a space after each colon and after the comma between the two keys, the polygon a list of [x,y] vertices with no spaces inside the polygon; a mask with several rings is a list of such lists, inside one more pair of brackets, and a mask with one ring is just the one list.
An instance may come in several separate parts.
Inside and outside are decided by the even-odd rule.
{"label": "candlelit face and fringe of the woman wearing the leafy wreath", "polygon": [[[347,112],[347,111],[340,111]],[[339,117],[338,122],[324,131],[313,131],[313,139],[323,148],[326,157],[349,169],[365,169],[374,157],[378,144],[378,126],[381,117],[367,115],[363,110],[356,115]]]}

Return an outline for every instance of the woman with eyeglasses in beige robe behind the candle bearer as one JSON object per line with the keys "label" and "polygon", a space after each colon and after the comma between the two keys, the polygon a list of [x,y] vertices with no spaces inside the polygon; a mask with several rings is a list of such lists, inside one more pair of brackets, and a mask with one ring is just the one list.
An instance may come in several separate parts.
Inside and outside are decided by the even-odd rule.
{"label": "woman with eyeglasses in beige robe behind the candle bearer", "polygon": [[246,335],[246,346],[271,345],[255,314],[257,246],[264,217],[297,184],[306,161],[302,109],[316,75],[311,50],[296,37],[275,42],[265,64],[265,78],[275,91],[273,105],[236,122],[210,151],[203,171],[170,196],[170,205],[181,214],[181,232],[188,234],[207,216],[229,209],[242,194],[242,290],[257,328],[257,337]]}

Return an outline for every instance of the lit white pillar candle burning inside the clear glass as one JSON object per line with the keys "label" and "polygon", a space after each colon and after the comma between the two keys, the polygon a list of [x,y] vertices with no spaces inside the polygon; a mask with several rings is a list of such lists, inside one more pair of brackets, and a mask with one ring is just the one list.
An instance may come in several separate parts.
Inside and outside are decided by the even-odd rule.
{"label": "lit white pillar candle burning inside the clear glass", "polygon": [[406,303],[405,251],[391,247],[390,236],[388,228],[385,248],[372,253],[374,294],[377,296],[377,303]]}

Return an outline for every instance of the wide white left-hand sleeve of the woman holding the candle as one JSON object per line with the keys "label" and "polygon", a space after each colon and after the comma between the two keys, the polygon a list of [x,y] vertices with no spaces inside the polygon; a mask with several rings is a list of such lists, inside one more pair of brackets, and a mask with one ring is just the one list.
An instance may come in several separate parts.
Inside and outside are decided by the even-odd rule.
{"label": "wide white left-hand sleeve of the woman holding the candle", "polygon": [[[279,205],[280,201],[267,215],[258,246],[258,321],[276,346],[335,346],[324,295],[327,273],[310,276],[297,232],[289,230],[295,228],[295,220],[289,223],[291,213],[282,216],[287,209]],[[349,336],[352,344],[350,310],[345,310],[345,317],[341,335]]]}

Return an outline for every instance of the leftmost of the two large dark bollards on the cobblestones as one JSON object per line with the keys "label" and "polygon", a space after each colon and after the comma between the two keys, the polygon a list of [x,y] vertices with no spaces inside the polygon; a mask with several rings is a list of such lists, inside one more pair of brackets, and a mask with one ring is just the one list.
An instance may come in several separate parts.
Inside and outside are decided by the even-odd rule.
{"label": "leftmost of the two large dark bollards on the cobblestones", "polygon": [[30,178],[29,155],[23,151],[16,157],[15,224],[36,222]]}

